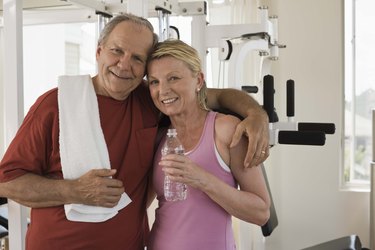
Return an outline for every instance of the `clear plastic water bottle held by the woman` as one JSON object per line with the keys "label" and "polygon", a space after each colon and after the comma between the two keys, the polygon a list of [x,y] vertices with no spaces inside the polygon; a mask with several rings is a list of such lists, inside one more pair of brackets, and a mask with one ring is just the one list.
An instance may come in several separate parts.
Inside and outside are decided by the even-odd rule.
{"label": "clear plastic water bottle held by the woman", "polygon": [[[167,139],[161,149],[163,156],[168,154],[183,155],[185,152],[180,140],[177,138],[176,129],[168,129]],[[167,201],[182,201],[186,200],[187,187],[186,184],[174,182],[169,179],[167,175],[164,177],[164,197]]]}

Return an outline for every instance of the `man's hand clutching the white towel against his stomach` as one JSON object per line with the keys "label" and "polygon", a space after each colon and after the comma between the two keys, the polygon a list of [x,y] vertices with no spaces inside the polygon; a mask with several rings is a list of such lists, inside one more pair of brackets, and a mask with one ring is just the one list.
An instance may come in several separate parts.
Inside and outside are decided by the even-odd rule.
{"label": "man's hand clutching the white towel against his stomach", "polygon": [[114,207],[124,192],[121,181],[110,178],[116,173],[115,169],[94,169],[81,176],[72,184],[75,191],[75,203]]}

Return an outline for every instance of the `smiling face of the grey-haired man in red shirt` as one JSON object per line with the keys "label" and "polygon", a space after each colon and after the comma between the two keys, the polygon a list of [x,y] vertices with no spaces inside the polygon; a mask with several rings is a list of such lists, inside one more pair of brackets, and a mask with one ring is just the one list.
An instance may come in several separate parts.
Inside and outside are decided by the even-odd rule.
{"label": "smiling face of the grey-haired man in red shirt", "polygon": [[121,22],[96,51],[97,94],[124,100],[141,82],[153,34],[144,26]]}

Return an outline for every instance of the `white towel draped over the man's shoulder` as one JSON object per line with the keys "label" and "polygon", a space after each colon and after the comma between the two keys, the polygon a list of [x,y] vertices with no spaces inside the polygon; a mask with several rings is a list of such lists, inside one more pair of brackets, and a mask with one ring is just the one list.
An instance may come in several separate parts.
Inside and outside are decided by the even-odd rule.
{"label": "white towel draped over the man's shoulder", "polygon": [[[98,101],[91,77],[60,76],[58,81],[60,158],[64,179],[76,179],[91,169],[110,169],[100,125]],[[124,192],[113,208],[66,204],[68,220],[102,222],[131,202]]]}

